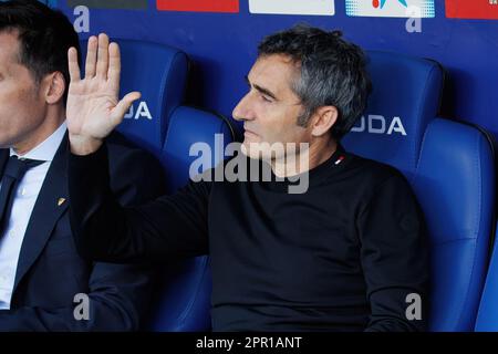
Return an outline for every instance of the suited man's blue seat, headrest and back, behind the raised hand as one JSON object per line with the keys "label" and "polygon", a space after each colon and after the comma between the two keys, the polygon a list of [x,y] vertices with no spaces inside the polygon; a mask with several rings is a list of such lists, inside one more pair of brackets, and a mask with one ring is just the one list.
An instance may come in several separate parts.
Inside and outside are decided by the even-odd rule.
{"label": "suited man's blue seat, headrest and back, behind the raised hand", "polygon": [[[141,91],[141,102],[118,129],[164,164],[169,192],[188,181],[191,144],[204,142],[215,153],[234,140],[235,132],[222,116],[181,106],[187,80],[185,53],[163,44],[116,40],[122,54],[121,93]],[[82,58],[86,41],[81,42]],[[222,138],[215,138],[221,134]],[[220,155],[214,156],[218,163]],[[222,158],[222,156],[221,156]],[[207,165],[205,167],[208,167]],[[210,329],[211,278],[208,257],[170,262],[158,271],[159,284],[146,330],[207,331]]]}

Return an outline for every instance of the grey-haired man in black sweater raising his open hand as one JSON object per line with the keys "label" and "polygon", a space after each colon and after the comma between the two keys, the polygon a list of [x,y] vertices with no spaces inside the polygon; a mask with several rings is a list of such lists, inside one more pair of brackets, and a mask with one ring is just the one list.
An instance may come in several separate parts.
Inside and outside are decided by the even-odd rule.
{"label": "grey-haired man in black sweater raising his open hand", "polygon": [[139,93],[117,100],[120,53],[105,34],[89,41],[84,79],[75,58],[70,50],[69,169],[82,254],[209,253],[215,331],[425,329],[428,260],[414,195],[397,170],[340,145],[370,88],[361,49],[340,32],[299,25],[266,38],[234,110],[242,154],[135,208],[110,189],[105,137]]}

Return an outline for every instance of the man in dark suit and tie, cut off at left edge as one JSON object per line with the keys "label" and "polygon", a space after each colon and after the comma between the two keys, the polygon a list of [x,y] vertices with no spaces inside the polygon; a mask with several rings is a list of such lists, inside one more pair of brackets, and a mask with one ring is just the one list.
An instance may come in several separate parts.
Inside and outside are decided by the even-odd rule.
{"label": "man in dark suit and tie, cut off at left edge", "polygon": [[[68,209],[71,22],[38,1],[0,3],[0,331],[136,330],[151,269],[83,260]],[[162,169],[116,134],[108,174],[122,205],[163,192]]]}

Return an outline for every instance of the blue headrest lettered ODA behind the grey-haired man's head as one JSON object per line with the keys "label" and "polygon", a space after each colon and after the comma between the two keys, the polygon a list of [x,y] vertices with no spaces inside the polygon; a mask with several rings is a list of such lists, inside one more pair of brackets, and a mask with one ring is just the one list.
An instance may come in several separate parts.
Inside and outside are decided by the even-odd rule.
{"label": "blue headrest lettered ODA behind the grey-haired man's head", "polygon": [[366,112],[343,138],[346,149],[411,176],[427,124],[439,110],[442,66],[430,60],[369,51],[373,91]]}

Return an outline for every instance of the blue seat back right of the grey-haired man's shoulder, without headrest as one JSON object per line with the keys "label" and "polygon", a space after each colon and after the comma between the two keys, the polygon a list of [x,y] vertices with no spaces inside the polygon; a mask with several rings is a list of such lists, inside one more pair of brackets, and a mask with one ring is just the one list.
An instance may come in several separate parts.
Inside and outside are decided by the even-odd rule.
{"label": "blue seat back right of the grey-haired man's shoulder, without headrest", "polygon": [[430,237],[432,331],[474,330],[495,222],[494,166],[479,129],[442,118],[427,127],[413,187]]}

